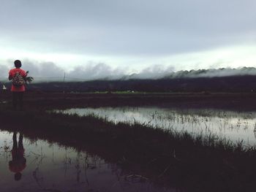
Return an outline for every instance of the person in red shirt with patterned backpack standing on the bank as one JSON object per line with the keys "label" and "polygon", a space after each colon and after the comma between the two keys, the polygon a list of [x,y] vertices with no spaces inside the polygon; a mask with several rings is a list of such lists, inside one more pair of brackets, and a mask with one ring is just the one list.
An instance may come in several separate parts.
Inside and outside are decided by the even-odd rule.
{"label": "person in red shirt with patterned backpack standing on the bank", "polygon": [[14,61],[15,69],[11,69],[9,72],[9,80],[12,80],[12,104],[15,110],[17,110],[17,104],[19,101],[20,110],[23,110],[23,93],[25,91],[25,78],[27,73],[20,69],[20,60]]}

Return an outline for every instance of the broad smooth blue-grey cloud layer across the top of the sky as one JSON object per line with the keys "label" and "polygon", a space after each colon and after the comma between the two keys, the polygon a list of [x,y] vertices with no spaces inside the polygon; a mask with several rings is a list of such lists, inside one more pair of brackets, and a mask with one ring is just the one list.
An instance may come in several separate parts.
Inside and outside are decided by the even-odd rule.
{"label": "broad smooth blue-grey cloud layer across the top of the sky", "polygon": [[256,1],[1,1],[0,35],[23,49],[112,55],[256,43]]}

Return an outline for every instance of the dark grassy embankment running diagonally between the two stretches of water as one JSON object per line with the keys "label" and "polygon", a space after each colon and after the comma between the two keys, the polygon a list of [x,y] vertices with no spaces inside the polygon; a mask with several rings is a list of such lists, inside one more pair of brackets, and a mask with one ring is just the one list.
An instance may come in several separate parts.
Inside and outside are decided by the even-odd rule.
{"label": "dark grassy embankment running diagonally between the two stretches of water", "polygon": [[214,135],[193,138],[186,132],[45,112],[81,101],[74,100],[56,97],[56,105],[50,106],[50,99],[31,99],[27,102],[30,110],[24,112],[14,112],[9,104],[2,104],[1,128],[88,150],[150,180],[186,191],[255,191],[255,148],[243,149],[241,143],[232,144]]}

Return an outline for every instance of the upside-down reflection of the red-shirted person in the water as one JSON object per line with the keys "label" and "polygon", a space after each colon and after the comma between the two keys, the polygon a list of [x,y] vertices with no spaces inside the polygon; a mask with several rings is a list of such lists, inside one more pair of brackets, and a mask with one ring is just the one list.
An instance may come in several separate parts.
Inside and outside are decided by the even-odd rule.
{"label": "upside-down reflection of the red-shirted person in the water", "polygon": [[14,172],[15,180],[21,179],[21,172],[26,167],[26,158],[24,158],[24,147],[23,147],[23,134],[20,133],[19,141],[17,142],[17,132],[15,131],[12,136],[12,161],[9,161],[9,169]]}

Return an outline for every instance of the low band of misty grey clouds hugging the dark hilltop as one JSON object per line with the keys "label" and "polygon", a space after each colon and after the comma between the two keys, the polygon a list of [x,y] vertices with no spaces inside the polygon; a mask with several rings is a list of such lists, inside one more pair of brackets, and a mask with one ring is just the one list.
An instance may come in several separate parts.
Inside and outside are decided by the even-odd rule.
{"label": "low band of misty grey clouds hugging the dark hilltop", "polygon": [[[217,61],[222,62],[222,61]],[[0,64],[0,74],[2,81],[7,81],[8,72],[13,64],[7,61],[9,66]],[[29,76],[34,77],[34,82],[42,81],[63,81],[64,69],[53,62],[23,61],[23,69],[29,70]],[[194,78],[194,77],[228,77],[234,75],[256,75],[256,68],[242,67],[238,69],[199,69],[190,71],[175,72],[175,67],[153,65],[142,69],[138,73],[127,74],[125,68],[113,68],[104,63],[88,62],[80,65],[65,73],[66,81],[85,81],[85,80],[131,80],[131,79],[153,79],[160,78]]]}

